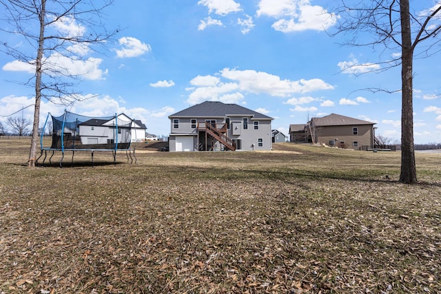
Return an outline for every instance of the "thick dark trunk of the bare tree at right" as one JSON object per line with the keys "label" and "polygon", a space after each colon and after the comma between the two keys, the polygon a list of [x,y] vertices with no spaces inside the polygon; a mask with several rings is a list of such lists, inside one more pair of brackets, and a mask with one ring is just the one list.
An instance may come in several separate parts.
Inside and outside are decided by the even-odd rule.
{"label": "thick dark trunk of the bare tree at right", "polygon": [[416,178],[415,150],[413,147],[413,45],[409,0],[400,1],[402,38],[402,109],[401,109],[401,174],[400,182],[413,183]]}

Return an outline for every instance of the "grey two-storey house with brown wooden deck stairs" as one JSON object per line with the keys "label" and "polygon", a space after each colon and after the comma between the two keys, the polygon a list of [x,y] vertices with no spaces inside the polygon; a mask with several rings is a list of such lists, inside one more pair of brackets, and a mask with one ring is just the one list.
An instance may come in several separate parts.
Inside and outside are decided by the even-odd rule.
{"label": "grey two-storey house with brown wooden deck stairs", "polygon": [[205,101],[169,116],[170,151],[271,150],[273,118],[236,104]]}

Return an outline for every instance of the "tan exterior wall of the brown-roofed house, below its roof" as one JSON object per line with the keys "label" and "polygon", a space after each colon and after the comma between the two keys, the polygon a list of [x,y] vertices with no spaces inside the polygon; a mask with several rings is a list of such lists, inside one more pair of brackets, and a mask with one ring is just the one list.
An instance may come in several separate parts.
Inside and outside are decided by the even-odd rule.
{"label": "tan exterior wall of the brown-roofed house, below its roof", "polygon": [[[357,135],[353,135],[353,128],[358,130]],[[317,143],[331,145],[334,141],[335,146],[345,147],[348,149],[360,150],[362,145],[371,146],[373,143],[372,125],[342,125],[329,127],[316,127]],[[344,142],[345,146],[340,146]],[[358,145],[354,146],[354,142]]]}

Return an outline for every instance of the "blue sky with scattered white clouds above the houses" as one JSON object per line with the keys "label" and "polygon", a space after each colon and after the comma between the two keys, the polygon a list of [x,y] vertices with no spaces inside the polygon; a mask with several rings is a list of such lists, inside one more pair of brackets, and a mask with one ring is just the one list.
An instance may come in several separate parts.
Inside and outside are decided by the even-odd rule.
{"label": "blue sky with scattered white clouds above the houses", "polygon": [[[400,52],[342,45],[335,32],[334,0],[116,0],[105,10],[105,26],[121,28],[105,50],[72,47],[81,59],[47,56],[72,73],[81,102],[42,101],[48,113],[64,109],[89,116],[124,113],[142,120],[147,132],[170,134],[168,116],[204,101],[236,103],[274,118],[272,128],[289,135],[289,125],[328,114],[376,123],[376,135],[400,142],[400,67],[385,70]],[[411,1],[427,14],[439,0]],[[0,28],[5,28],[0,20]],[[53,30],[88,34],[75,19]],[[17,35],[2,42],[28,50]],[[360,38],[367,35],[360,35]],[[380,48],[381,49],[381,48]],[[439,49],[439,48],[438,48]],[[441,142],[440,54],[414,61],[413,111],[416,144]],[[382,63],[379,63],[382,62]],[[386,62],[386,63],[384,63]],[[63,67],[64,68],[64,67]],[[32,66],[0,52],[0,122],[32,119]],[[367,89],[384,91],[369,91]],[[25,107],[25,108],[23,108]]]}

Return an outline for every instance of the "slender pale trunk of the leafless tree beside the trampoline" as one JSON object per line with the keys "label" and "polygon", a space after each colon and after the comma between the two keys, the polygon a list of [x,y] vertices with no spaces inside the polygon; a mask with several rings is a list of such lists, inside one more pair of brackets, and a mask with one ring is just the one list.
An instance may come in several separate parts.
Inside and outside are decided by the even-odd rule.
{"label": "slender pale trunk of the leafless tree beside the trampoline", "polygon": [[39,49],[37,51],[37,60],[35,64],[35,107],[34,107],[34,125],[32,126],[32,138],[30,142],[30,152],[28,167],[35,167],[37,162],[37,144],[39,141],[39,125],[40,125],[40,104],[41,104],[41,75],[44,45],[44,29],[45,29],[45,6],[46,0],[41,1],[41,10],[39,12],[40,34]]}

